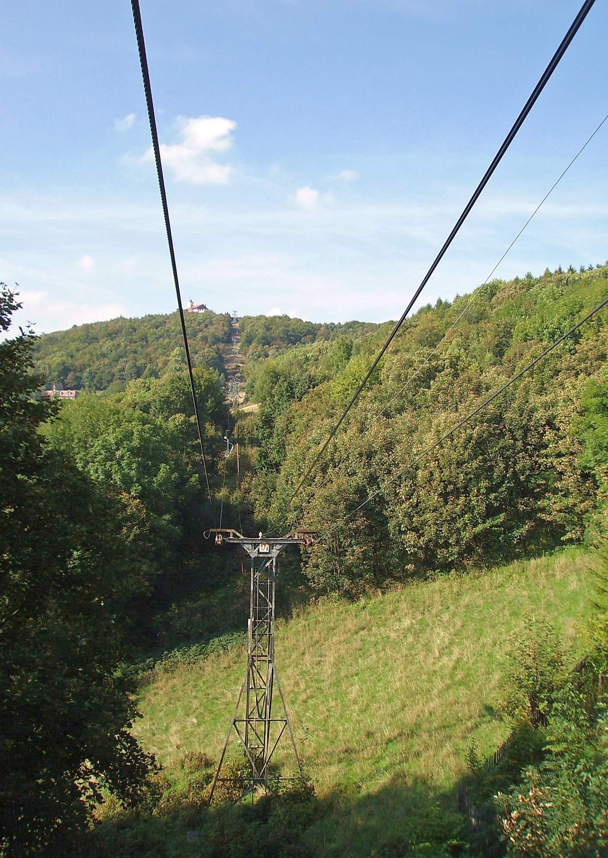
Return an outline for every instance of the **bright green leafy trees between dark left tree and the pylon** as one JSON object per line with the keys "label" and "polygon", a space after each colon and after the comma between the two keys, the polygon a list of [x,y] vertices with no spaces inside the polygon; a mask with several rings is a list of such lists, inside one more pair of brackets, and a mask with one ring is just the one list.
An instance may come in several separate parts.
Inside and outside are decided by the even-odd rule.
{"label": "bright green leafy trees between dark left tree and the pylon", "polygon": [[[194,371],[214,479],[226,420],[220,378]],[[122,393],[65,402],[44,427],[112,505],[123,541],[123,625],[131,642],[156,644],[155,613],[166,614],[180,586],[202,581],[202,533],[211,524],[187,372],[140,378]]]}

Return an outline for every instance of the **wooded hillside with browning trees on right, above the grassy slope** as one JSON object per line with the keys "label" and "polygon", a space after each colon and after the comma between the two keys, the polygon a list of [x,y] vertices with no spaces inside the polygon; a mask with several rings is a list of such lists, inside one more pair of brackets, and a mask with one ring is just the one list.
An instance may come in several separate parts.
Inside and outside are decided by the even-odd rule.
{"label": "wooded hillside with browning trees on right, above the grassy slope", "polygon": [[581,539],[605,498],[605,310],[417,459],[606,293],[604,265],[492,281],[473,302],[465,295],[422,308],[295,498],[384,332],[317,341],[256,366],[252,499],[278,529],[330,530],[305,560],[310,581],[356,594],[429,569]]}

